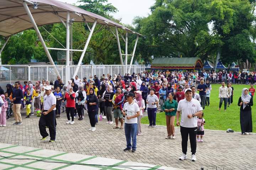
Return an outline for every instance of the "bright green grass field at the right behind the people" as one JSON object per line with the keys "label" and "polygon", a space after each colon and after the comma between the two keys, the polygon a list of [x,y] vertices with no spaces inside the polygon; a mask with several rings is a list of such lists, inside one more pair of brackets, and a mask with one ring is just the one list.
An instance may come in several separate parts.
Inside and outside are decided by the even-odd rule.
{"label": "bright green grass field at the right behind the people", "polygon": [[[233,96],[233,104],[227,107],[227,110],[224,112],[224,102],[222,104],[221,111],[219,108],[219,87],[220,84],[212,84],[212,91],[210,94],[210,106],[205,107],[204,109],[204,119],[206,120],[206,125],[204,125],[205,129],[213,129],[213,130],[227,130],[231,128],[234,131],[241,131],[240,128],[240,107],[238,106],[238,99],[241,96],[241,92],[243,88],[250,88],[250,85],[233,85],[234,87],[234,96]],[[255,106],[252,106],[252,125],[253,132],[256,132],[256,115]],[[149,124],[148,117],[142,118],[142,124]],[[165,125],[165,113],[161,112],[156,115],[156,125]],[[176,120],[175,120],[176,126]]]}

